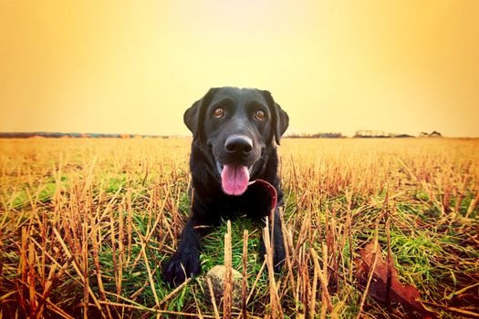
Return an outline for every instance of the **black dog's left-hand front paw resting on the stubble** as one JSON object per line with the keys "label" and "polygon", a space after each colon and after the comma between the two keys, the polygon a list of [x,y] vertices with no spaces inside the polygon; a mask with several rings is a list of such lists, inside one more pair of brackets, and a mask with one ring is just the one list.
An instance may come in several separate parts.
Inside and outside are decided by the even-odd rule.
{"label": "black dog's left-hand front paw resting on the stubble", "polygon": [[196,250],[175,252],[163,267],[163,277],[174,286],[200,273],[200,255]]}

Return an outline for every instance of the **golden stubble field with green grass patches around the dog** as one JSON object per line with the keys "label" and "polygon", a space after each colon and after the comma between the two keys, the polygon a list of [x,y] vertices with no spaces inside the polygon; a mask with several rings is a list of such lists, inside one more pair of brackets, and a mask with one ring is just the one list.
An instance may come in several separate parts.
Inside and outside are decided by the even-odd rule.
{"label": "golden stubble field with green grass patches around the dog", "polygon": [[[217,316],[203,274],[224,263],[226,226],[203,238],[202,275],[176,290],[161,279],[189,214],[190,143],[0,140],[0,318]],[[233,317],[479,316],[478,139],[282,144],[286,264],[268,273],[261,229],[232,221],[248,286]],[[390,290],[396,277],[422,310]]]}

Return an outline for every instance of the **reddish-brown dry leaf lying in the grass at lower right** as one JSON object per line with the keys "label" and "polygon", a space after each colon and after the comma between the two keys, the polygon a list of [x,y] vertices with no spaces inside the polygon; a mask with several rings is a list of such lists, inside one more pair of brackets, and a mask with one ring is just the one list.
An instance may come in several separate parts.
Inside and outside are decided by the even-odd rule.
{"label": "reddish-brown dry leaf lying in the grass at lower right", "polygon": [[370,293],[370,296],[382,302],[401,303],[421,314],[431,314],[420,302],[418,302],[418,299],[421,296],[419,291],[411,284],[402,285],[400,283],[398,270],[394,267],[392,256],[390,256],[388,262],[385,262],[380,253],[380,249],[378,249],[378,252],[374,252],[374,246],[374,242],[370,242],[364,249],[359,249],[361,257],[356,261],[356,278],[359,283],[364,287],[368,282],[370,268],[374,262],[375,254],[378,253],[378,261],[374,268],[370,290],[368,292]]}

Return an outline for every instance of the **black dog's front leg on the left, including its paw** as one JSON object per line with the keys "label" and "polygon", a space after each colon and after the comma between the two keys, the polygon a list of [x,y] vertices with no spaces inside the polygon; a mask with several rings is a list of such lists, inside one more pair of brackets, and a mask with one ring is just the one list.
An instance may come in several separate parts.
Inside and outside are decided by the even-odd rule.
{"label": "black dog's front leg on the left, including its paw", "polygon": [[178,249],[163,267],[164,278],[172,285],[200,273],[200,235],[195,230],[199,225],[200,222],[193,219],[186,223]]}

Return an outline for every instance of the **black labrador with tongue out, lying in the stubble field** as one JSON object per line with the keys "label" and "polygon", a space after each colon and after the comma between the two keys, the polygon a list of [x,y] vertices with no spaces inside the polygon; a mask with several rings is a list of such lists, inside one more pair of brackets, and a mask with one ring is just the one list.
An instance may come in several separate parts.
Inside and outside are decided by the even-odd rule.
{"label": "black labrador with tongue out, lying in the stubble field", "polygon": [[[260,183],[269,182],[277,192],[274,225],[275,271],[285,259],[278,206],[283,192],[277,176],[276,145],[289,118],[268,91],[254,88],[216,87],[184,113],[193,132],[190,170],[193,204],[177,251],[163,268],[168,283],[177,285],[200,273],[200,229],[217,225],[222,217],[243,213],[264,219],[272,211],[271,193]],[[265,243],[260,257],[265,254]]]}

